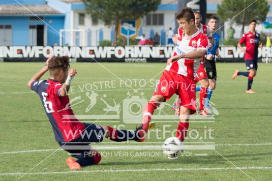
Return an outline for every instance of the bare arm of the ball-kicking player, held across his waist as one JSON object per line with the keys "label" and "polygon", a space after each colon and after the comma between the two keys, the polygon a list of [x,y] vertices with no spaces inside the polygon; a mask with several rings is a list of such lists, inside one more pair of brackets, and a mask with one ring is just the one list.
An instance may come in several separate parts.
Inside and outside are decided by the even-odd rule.
{"label": "bare arm of the ball-kicking player, held across his waist", "polygon": [[177,61],[180,58],[195,59],[196,61],[201,61],[201,58],[206,54],[206,49],[198,48],[196,51],[191,51],[185,54],[178,54],[170,57],[167,60],[167,64]]}

